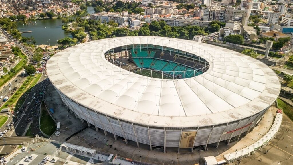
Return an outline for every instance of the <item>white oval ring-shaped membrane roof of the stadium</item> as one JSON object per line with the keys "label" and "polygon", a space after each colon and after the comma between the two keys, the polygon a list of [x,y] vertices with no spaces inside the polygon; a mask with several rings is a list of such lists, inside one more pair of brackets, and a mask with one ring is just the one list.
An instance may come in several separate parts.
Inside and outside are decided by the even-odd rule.
{"label": "white oval ring-shaped membrane roof of the stadium", "polygon": [[[152,44],[193,53],[209,70],[193,78],[150,78],[113,65],[115,47]],[[280,82],[264,63],[226,48],[154,36],[107,38],[72,46],[48,60],[47,74],[64,95],[92,110],[129,122],[161,127],[219,124],[269,107]]]}

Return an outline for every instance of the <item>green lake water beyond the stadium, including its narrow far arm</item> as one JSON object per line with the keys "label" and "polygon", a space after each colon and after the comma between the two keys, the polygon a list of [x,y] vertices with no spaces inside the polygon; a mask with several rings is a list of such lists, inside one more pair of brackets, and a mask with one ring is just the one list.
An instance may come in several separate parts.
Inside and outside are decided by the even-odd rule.
{"label": "green lake water beyond the stadium, including its narrow far arm", "polygon": [[[94,8],[88,6],[87,13],[93,14]],[[87,13],[82,14],[85,16]],[[72,17],[75,18],[75,17]],[[26,23],[28,25],[26,25]],[[46,20],[35,20],[35,21],[19,21],[16,23],[19,31],[33,31],[31,33],[22,33],[24,37],[34,36],[36,44],[50,44],[56,45],[57,40],[64,37],[72,37],[72,35],[64,30],[61,26],[63,25],[61,19],[46,19]],[[24,24],[24,25],[23,25]]]}

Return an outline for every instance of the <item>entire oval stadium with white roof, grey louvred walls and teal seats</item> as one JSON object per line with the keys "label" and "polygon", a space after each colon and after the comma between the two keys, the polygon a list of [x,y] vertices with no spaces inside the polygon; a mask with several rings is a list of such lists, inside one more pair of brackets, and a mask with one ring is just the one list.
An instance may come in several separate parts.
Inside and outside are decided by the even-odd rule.
{"label": "entire oval stadium with white roof, grey louvred walls and teal seats", "polygon": [[164,152],[244,137],[280,92],[277,75],[258,60],[155,36],[72,46],[48,60],[47,75],[67,108],[88,126]]}

